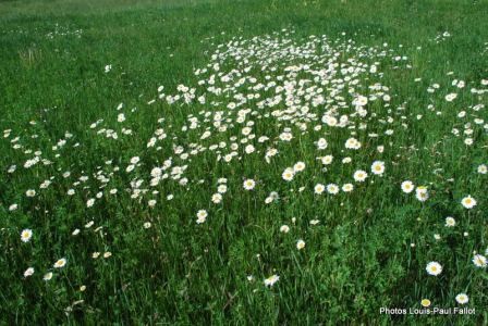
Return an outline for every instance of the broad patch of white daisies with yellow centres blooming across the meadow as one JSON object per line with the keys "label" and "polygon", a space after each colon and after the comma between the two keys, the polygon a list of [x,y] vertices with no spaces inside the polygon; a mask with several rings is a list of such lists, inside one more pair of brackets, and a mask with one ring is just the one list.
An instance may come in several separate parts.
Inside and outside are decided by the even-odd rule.
{"label": "broad patch of white daisies with yellow centres blooming across the meadow", "polygon": [[[436,41],[448,37],[444,33]],[[81,142],[81,137],[70,131],[48,138],[3,130],[16,160],[5,171],[8,181],[29,178],[29,183],[13,187],[15,192],[4,201],[7,211],[35,215],[47,210],[49,214],[54,208],[45,209],[50,206],[46,202],[56,206],[62,201],[68,210],[83,210],[83,218],[66,225],[70,229],[60,237],[85,233],[105,239],[102,221],[93,217],[101,220],[100,212],[127,210],[143,220],[178,211],[185,227],[199,233],[221,223],[222,212],[232,204],[241,208],[240,215],[252,220],[269,206],[284,211],[297,198],[322,205],[325,211],[326,206],[353,202],[352,198],[359,202],[365,196],[380,197],[380,189],[392,188],[394,198],[423,210],[436,198],[443,200],[438,185],[450,183],[450,189],[457,186],[464,192],[453,189],[455,208],[438,224],[455,229],[457,220],[480,218],[476,211],[485,199],[477,196],[479,189],[453,185],[449,181],[452,176],[441,167],[436,167],[434,176],[417,174],[415,167],[402,172],[412,152],[428,154],[432,150],[417,148],[403,135],[424,120],[453,115],[455,122],[446,130],[450,141],[457,141],[466,151],[486,147],[486,79],[469,89],[467,82],[452,74],[448,86],[431,82],[426,95],[440,97],[442,104],[413,114],[408,103],[385,82],[389,71],[411,76],[414,66],[403,47],[357,45],[345,35],[312,35],[297,40],[292,30],[283,29],[251,39],[234,37],[213,48],[209,62],[194,71],[193,85],[182,84],[173,91],[160,86],[138,108],[114,105],[108,117],[87,126],[90,143]],[[114,70],[105,67],[107,73]],[[457,108],[461,97],[471,97],[472,104]],[[137,123],[145,110],[158,114],[145,126],[149,133],[141,130]],[[41,123],[29,124],[35,129]],[[97,155],[87,154],[90,148]],[[63,160],[68,154],[71,159]],[[486,162],[472,164],[476,177],[486,177]],[[439,176],[441,183],[434,181]],[[280,218],[276,221],[279,233],[293,237],[289,249],[306,252],[310,248],[308,234],[298,227],[305,217]],[[306,227],[318,227],[320,218],[314,216]],[[16,230],[20,242],[35,242],[37,230],[32,223]],[[139,225],[149,231],[158,223],[143,220]],[[462,230],[461,237],[467,237],[466,233]],[[91,260],[112,255],[109,244],[102,243],[89,252]],[[486,250],[468,255],[474,273],[486,273]],[[45,264],[44,280],[50,280],[59,268],[70,268],[70,259],[62,256]],[[422,272],[431,276],[442,277],[447,269],[434,253],[431,261],[420,264],[425,266]],[[25,268],[19,277],[36,276],[35,267]],[[267,273],[258,276],[264,279],[260,286],[272,287],[286,279],[272,265],[264,269]],[[247,276],[249,281],[255,278]],[[467,302],[464,288],[455,300]]]}

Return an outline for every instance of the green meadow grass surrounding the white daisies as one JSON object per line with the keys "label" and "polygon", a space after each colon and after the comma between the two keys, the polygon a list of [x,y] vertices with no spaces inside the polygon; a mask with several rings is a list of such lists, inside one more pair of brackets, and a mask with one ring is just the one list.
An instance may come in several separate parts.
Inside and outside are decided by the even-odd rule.
{"label": "green meadow grass surrounding the white daisies", "polygon": [[[487,16],[487,1],[0,1],[0,128],[12,129],[0,139],[0,324],[486,323],[488,275],[472,259],[474,250],[484,254],[488,248],[488,181],[487,175],[476,172],[478,165],[488,164],[488,138],[484,125],[473,118],[486,124],[488,114],[486,108],[475,112],[469,106],[488,101],[486,93],[473,95],[469,89],[483,88],[480,80],[488,79]],[[157,88],[163,85],[166,93],[176,93],[183,84],[200,92],[204,88],[197,82],[204,77],[195,76],[194,70],[210,62],[217,45],[283,28],[295,30],[290,38],[297,43],[310,35],[327,35],[366,47],[388,43],[388,49],[407,57],[412,68],[393,68],[389,58],[365,59],[381,61],[380,82],[390,88],[393,112],[387,113],[381,104],[368,110],[380,117],[393,116],[394,136],[364,136],[364,150],[351,154],[354,164],[349,166],[335,161],[346,155],[341,150],[351,130],[329,133],[329,149],[337,158],[324,174],[315,160],[317,135],[301,135],[293,126],[296,142],[277,143],[280,154],[271,164],[253,155],[221,164],[207,152],[188,164],[184,175],[188,190],[164,183],[155,188],[159,193],[146,195],[142,202],[131,199],[125,189],[133,177],[144,178],[148,187],[151,168],[178,156],[173,142],[199,141],[196,130],[181,131],[187,115],[213,110],[199,103],[148,105],[157,98]],[[48,37],[56,30],[69,34]],[[434,40],[447,30],[451,37]],[[107,64],[112,65],[109,73],[103,72]],[[466,82],[466,87],[456,90],[453,79]],[[440,89],[428,93],[435,83]],[[460,95],[447,102],[444,96],[452,91]],[[230,101],[209,98],[223,102],[219,110]],[[122,137],[115,122],[119,103],[124,103],[120,112],[127,117],[123,126],[133,130],[132,137]],[[429,110],[429,104],[442,114]],[[400,105],[405,110],[398,111]],[[133,108],[137,110],[131,113]],[[456,116],[462,110],[468,111],[466,120]],[[159,117],[166,118],[162,127],[168,135],[179,138],[168,137],[155,151],[146,143]],[[103,123],[91,129],[100,118]],[[256,138],[282,131],[270,122],[274,121],[256,120]],[[96,135],[101,127],[117,129],[120,139]],[[453,127],[461,133],[472,128],[474,145],[463,143],[467,136],[454,137]],[[368,133],[387,128],[371,120]],[[73,137],[53,150],[66,131]],[[229,141],[234,134],[229,130],[217,140]],[[17,136],[24,150],[39,150],[54,163],[24,168],[33,153],[12,148]],[[379,145],[386,147],[381,155],[376,151]],[[406,149],[410,146],[417,150]],[[127,162],[136,155],[143,165],[126,174]],[[113,170],[107,160],[122,173],[109,176]],[[383,177],[368,178],[374,184],[355,185],[350,195],[320,200],[314,196],[318,181],[351,181],[356,168],[369,172],[375,160],[385,161],[387,170]],[[283,170],[297,161],[306,162],[306,171],[290,184],[283,181]],[[14,173],[8,173],[11,165],[16,165]],[[434,173],[437,168],[442,171]],[[63,178],[66,171],[72,176]],[[99,189],[94,177],[98,171],[109,176],[107,189]],[[83,175],[89,179],[75,187],[75,196],[66,196]],[[50,177],[53,184],[39,189]],[[210,196],[220,177],[228,178],[229,191],[223,203],[215,205]],[[243,178],[256,179],[256,189],[244,191]],[[429,200],[420,203],[403,193],[400,184],[406,179],[428,186]],[[307,190],[298,192],[302,186]],[[115,197],[107,195],[111,188],[119,190]],[[27,198],[27,189],[36,189],[37,196]],[[107,199],[87,208],[86,201],[98,191]],[[278,191],[281,199],[267,205],[264,200],[270,191]],[[172,201],[166,200],[169,193],[174,195]],[[460,204],[467,195],[477,200],[473,210]],[[152,209],[147,206],[151,198],[158,200]],[[9,211],[13,203],[19,209]],[[197,225],[195,213],[200,209],[209,217]],[[447,216],[455,218],[455,227],[444,226]],[[310,227],[314,218],[320,224]],[[95,224],[88,229],[84,225],[89,221]],[[144,228],[145,222],[151,227]],[[291,226],[289,234],[279,231],[282,224]],[[26,243],[20,237],[24,228],[34,231]],[[81,233],[72,236],[75,228]],[[435,234],[441,240],[435,240]],[[298,239],[306,242],[300,251]],[[110,258],[93,259],[94,252],[107,251]],[[60,258],[68,259],[66,266],[44,281],[44,273]],[[443,265],[441,275],[427,275],[430,261]],[[34,275],[24,277],[30,266]],[[280,280],[266,288],[263,279],[272,274]],[[255,280],[247,280],[248,275]],[[379,314],[381,306],[420,308],[424,298],[434,306],[459,306],[454,297],[460,292],[469,296],[467,306],[476,309],[475,315]],[[78,300],[84,301],[73,305]]]}

